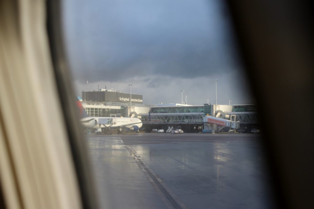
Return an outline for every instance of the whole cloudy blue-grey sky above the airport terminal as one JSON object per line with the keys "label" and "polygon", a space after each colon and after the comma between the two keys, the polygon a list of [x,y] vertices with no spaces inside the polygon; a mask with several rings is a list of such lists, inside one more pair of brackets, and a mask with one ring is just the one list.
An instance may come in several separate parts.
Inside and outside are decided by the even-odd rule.
{"label": "whole cloudy blue-grey sky above the airport terminal", "polygon": [[[106,88],[143,103],[252,104],[228,9],[219,0],[66,0],[75,93]],[[88,88],[87,82],[88,81]]]}

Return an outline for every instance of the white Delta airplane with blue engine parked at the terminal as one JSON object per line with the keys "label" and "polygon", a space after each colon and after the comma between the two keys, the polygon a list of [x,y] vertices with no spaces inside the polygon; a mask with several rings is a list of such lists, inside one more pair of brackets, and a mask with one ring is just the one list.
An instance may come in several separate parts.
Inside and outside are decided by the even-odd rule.
{"label": "white Delta airplane with blue engine parked at the terminal", "polygon": [[142,127],[143,122],[138,118],[123,118],[123,117],[90,117],[84,110],[81,102],[79,100],[76,101],[76,105],[79,108],[81,115],[81,124],[89,129],[118,129],[118,133],[122,133],[124,131],[136,131],[138,132],[139,128]]}

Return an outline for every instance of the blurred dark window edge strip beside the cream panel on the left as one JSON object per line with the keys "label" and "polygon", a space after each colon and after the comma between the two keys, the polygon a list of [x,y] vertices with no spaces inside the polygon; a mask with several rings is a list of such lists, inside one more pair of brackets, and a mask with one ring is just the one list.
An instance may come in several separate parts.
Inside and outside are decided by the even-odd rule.
{"label": "blurred dark window edge strip beside the cream panel on the left", "polygon": [[47,1],[46,11],[47,35],[50,44],[51,59],[61,100],[62,112],[66,121],[66,129],[68,130],[68,139],[77,173],[83,208],[99,208],[87,146],[84,143],[83,132],[78,123],[79,117],[73,102],[75,101],[75,96],[73,95],[73,87],[70,85],[72,83],[72,76],[63,47],[62,1]]}

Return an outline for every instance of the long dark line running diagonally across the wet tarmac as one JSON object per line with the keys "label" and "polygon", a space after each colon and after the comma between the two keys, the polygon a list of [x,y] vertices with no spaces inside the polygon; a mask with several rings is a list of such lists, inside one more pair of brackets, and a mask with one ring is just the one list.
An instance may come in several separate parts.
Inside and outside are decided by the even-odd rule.
{"label": "long dark line running diagonally across the wet tarmac", "polygon": [[168,209],[188,209],[168,188],[163,180],[148,166],[136,150],[129,145],[126,145],[126,147]]}

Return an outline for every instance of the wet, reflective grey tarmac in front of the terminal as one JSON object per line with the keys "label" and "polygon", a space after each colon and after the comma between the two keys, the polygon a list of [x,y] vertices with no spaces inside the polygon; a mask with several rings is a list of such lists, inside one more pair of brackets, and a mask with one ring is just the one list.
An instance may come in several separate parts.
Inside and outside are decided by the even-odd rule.
{"label": "wet, reflective grey tarmac in front of the terminal", "polygon": [[259,134],[89,135],[101,208],[273,208]]}

